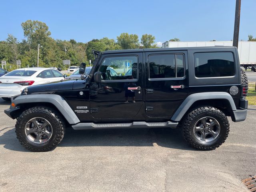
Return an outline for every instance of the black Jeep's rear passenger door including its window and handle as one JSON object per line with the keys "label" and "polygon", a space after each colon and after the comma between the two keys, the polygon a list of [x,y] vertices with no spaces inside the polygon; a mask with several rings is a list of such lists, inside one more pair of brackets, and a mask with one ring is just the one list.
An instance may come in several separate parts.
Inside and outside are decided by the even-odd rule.
{"label": "black Jeep's rear passenger door including its window and handle", "polygon": [[146,114],[171,117],[188,94],[187,51],[145,52]]}

